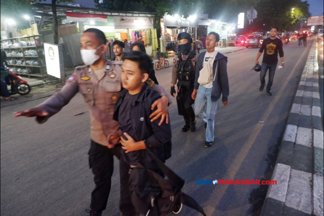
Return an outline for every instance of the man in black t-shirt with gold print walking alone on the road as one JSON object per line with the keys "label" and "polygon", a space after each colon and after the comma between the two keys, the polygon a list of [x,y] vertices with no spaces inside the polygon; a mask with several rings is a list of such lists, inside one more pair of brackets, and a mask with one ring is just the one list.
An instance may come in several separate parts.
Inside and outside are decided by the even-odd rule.
{"label": "man in black t-shirt with gold print walking alone on the road", "polygon": [[267,95],[271,96],[271,86],[273,82],[274,72],[275,68],[278,63],[278,52],[281,60],[281,66],[285,67],[284,62],[284,51],[282,50],[282,41],[276,37],[278,33],[277,27],[272,27],[270,31],[270,37],[266,38],[262,42],[262,46],[258,52],[257,59],[255,61],[255,64],[259,64],[259,58],[264,51],[263,54],[263,60],[261,65],[261,72],[260,72],[260,92],[263,91],[265,86],[265,75],[267,73],[267,70],[269,69],[269,81],[267,84]]}

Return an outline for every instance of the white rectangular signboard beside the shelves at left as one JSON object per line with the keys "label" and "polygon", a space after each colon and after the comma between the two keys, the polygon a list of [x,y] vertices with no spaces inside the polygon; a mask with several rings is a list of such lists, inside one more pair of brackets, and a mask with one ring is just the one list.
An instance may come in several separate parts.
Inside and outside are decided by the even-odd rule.
{"label": "white rectangular signboard beside the shelves at left", "polygon": [[47,73],[60,79],[65,77],[62,46],[44,43],[44,51]]}

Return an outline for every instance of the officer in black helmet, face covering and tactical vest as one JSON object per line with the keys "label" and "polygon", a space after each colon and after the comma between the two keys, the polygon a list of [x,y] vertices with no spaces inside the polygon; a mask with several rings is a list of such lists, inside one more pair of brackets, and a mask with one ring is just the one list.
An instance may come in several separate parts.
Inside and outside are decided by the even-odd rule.
{"label": "officer in black helmet, face covering and tactical vest", "polygon": [[173,59],[171,95],[175,97],[175,84],[178,87],[177,106],[179,115],[183,115],[185,125],[182,132],[196,130],[195,115],[192,108],[194,100],[191,98],[195,79],[198,54],[191,51],[192,37],[187,32],[178,34],[179,52]]}

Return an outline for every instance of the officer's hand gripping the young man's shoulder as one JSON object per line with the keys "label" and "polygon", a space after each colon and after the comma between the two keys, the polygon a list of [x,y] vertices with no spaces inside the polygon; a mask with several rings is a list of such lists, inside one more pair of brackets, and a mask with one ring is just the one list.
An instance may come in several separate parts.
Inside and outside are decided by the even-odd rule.
{"label": "officer's hand gripping the young man's shoulder", "polygon": [[151,122],[161,117],[161,120],[158,123],[158,125],[161,125],[165,119],[166,123],[169,123],[168,104],[169,99],[166,96],[162,96],[160,99],[154,101],[154,103],[151,106],[151,109],[153,110],[155,109],[155,107],[157,107],[157,109],[150,115],[150,118],[154,116],[154,118],[151,119]]}

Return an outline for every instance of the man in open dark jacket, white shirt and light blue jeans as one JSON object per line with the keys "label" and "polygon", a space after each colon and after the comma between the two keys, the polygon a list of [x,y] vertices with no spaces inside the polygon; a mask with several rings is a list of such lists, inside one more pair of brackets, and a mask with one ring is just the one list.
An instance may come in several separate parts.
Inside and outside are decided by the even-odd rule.
{"label": "man in open dark jacket, white shirt and light blue jeans", "polygon": [[[206,142],[205,147],[211,147],[214,141],[214,122],[217,111],[217,101],[222,94],[222,103],[227,105],[227,97],[229,95],[229,83],[227,76],[227,57],[215,51],[218,46],[219,34],[211,32],[206,39],[207,52],[200,53],[197,60],[196,77],[194,82],[194,90],[191,95],[195,100],[194,112],[196,116],[200,116],[205,121]],[[210,62],[210,81],[207,84],[199,84],[199,72]],[[207,103],[207,111],[204,112],[204,105]]]}

